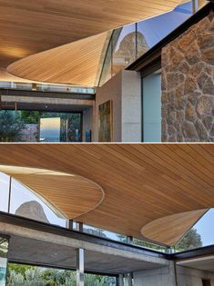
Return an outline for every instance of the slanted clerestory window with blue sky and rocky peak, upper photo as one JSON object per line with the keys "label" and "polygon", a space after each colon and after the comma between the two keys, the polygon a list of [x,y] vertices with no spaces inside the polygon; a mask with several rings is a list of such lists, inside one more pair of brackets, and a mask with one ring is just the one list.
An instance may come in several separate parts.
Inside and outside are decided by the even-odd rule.
{"label": "slanted clerestory window with blue sky and rocky peak, upper photo", "polygon": [[[202,2],[204,0],[201,0]],[[178,25],[185,22],[190,15],[192,15],[191,1],[178,5],[173,11],[163,15],[116,29],[108,45],[99,86],[147,53]]]}

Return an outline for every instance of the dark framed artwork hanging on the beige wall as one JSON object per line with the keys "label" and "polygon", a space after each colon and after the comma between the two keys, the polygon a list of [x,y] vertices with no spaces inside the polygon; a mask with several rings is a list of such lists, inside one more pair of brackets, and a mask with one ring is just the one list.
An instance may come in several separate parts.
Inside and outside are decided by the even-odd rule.
{"label": "dark framed artwork hanging on the beige wall", "polygon": [[98,141],[112,142],[112,101],[109,100],[98,107]]}

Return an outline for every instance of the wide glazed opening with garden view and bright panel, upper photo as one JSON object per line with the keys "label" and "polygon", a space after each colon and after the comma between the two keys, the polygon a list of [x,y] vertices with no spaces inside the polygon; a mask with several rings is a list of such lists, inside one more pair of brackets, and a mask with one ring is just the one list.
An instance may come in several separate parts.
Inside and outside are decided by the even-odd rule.
{"label": "wide glazed opening with garden view and bright panel, upper photo", "polygon": [[81,142],[82,113],[14,111],[7,110],[4,104],[0,110],[0,133],[2,142]]}

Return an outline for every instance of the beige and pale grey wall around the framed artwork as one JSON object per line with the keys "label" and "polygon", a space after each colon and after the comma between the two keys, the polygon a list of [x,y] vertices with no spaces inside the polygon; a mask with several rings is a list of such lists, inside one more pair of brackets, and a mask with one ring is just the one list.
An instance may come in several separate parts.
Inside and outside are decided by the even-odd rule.
{"label": "beige and pale grey wall around the framed artwork", "polygon": [[113,142],[140,142],[140,74],[122,71],[97,89],[95,142],[98,142],[98,106],[108,100],[113,103]]}

